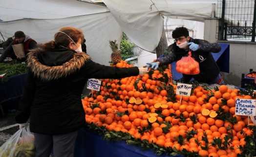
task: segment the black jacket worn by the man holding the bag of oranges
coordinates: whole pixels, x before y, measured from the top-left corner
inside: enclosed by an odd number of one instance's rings
[[[191,78],[198,82],[209,83],[212,82],[219,74],[220,70],[215,60],[213,59],[213,53],[218,53],[221,47],[218,43],[209,43],[202,39],[190,39],[189,42],[194,42],[199,45],[197,51],[192,51],[192,58],[199,63],[200,73],[197,75],[185,75],[183,78],[185,82],[189,82]],[[180,60],[182,57],[188,56],[188,50],[180,49],[176,43],[169,46],[171,53],[163,58],[158,58],[156,61],[160,62],[160,65],[167,65],[174,61]]]

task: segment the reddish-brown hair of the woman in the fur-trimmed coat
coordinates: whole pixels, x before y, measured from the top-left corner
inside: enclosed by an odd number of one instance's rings
[[[82,30],[73,27],[63,27],[59,32],[55,33],[54,41],[51,40],[43,44],[44,49],[58,48],[60,45],[67,47],[70,42],[73,42],[69,37],[77,43],[79,39],[84,39]]]

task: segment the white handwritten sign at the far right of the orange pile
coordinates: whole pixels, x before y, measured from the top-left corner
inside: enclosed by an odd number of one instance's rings
[[[256,100],[245,98],[235,99],[235,115],[256,116]]]

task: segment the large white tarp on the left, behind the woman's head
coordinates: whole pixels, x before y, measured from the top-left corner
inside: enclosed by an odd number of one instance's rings
[[[38,43],[43,43],[53,40],[54,34],[61,27],[72,26],[83,30],[87,54],[95,62],[109,65],[111,49],[108,41],[117,39],[120,42],[122,38],[121,27],[103,5],[78,0],[0,1],[0,19],[7,20],[15,17],[22,19],[0,22],[0,32],[4,39],[12,37],[16,31],[21,30]],[[9,12],[8,8],[12,12]]]

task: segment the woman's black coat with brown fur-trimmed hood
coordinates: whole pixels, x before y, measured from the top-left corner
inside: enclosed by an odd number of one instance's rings
[[[69,49],[30,51],[29,71],[16,114],[17,123],[30,118],[30,131],[61,135],[85,125],[81,93],[88,78],[126,78],[138,67],[117,68],[93,62],[85,53]]]

